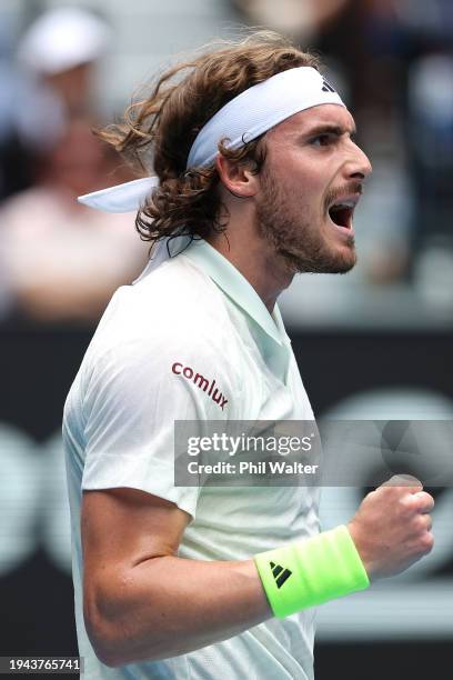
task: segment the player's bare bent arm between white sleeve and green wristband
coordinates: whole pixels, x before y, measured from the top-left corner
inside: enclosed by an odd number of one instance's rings
[[[142,491],[84,492],[84,618],[104,663],[174,657],[271,618],[253,560],[177,557],[189,519]]]

